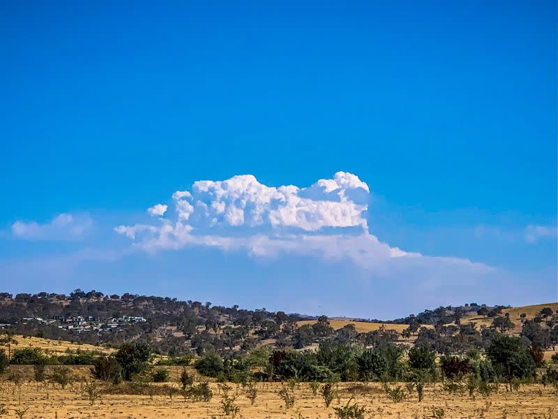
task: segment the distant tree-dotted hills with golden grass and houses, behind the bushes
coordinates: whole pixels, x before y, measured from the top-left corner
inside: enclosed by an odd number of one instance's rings
[[[262,345],[301,349],[325,343],[423,344],[438,353],[463,353],[484,348],[497,332],[523,335],[548,352],[558,341],[556,311],[557,302],[527,307],[471,303],[393,321],[364,321],[76,290],[70,295],[0,293],[0,332],[31,336],[17,345],[35,344],[54,354],[66,349],[95,351],[135,339],[149,341],[158,353],[170,356],[209,351],[227,356]],[[35,341],[36,337],[50,340]]]

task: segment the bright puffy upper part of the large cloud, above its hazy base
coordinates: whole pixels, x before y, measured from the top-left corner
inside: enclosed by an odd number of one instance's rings
[[[197,228],[270,227],[317,231],[323,228],[366,228],[368,185],[350,173],[337,172],[310,188],[271,187],[252,175],[224,181],[200,180],[192,192],[173,198],[180,220]]]

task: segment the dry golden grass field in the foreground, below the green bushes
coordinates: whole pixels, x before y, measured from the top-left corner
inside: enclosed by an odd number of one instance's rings
[[[178,385],[174,383],[173,385]],[[278,396],[280,383],[258,383],[255,404],[244,395],[240,386],[230,384],[229,395],[236,395],[235,404],[240,411],[236,418],[335,418],[334,407],[346,404],[354,396],[357,403],[366,406],[365,418],[497,418],[497,419],[554,419],[557,418],[556,390],[550,386],[526,385],[518,392],[506,392],[500,388],[490,397],[476,396],[469,399],[466,394],[455,395],[442,391],[440,385],[425,389],[423,402],[418,403],[416,394],[405,402],[393,403],[379,383],[342,383],[339,385],[340,404],[334,400],[326,409],[322,397],[312,395],[308,383],[300,383],[294,389],[295,402],[285,410]],[[52,383],[37,385],[32,381],[18,387],[8,381],[0,382],[0,408],[4,404],[7,413],[3,418],[17,418],[17,409],[29,410],[24,418],[212,418],[224,417],[220,409],[222,396],[216,383],[211,383],[211,402],[190,402],[180,395],[168,396],[104,395],[93,406],[84,395],[84,384],[76,382],[65,390]],[[353,388],[353,390],[351,390]],[[433,408],[443,416],[434,416]]]

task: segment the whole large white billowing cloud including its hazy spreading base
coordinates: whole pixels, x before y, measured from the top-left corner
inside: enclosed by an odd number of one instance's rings
[[[423,258],[390,247],[368,231],[370,188],[348,172],[303,188],[266,186],[252,175],[199,180],[190,191],[173,193],[172,199],[172,216],[155,224],[118,226],[116,232],[146,251],[202,246],[259,257],[295,253],[352,260],[367,269],[390,260]],[[457,258],[439,259],[481,266]]]

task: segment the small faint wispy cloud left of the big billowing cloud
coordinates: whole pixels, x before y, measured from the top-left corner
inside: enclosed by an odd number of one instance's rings
[[[47,223],[15,221],[12,235],[29,241],[75,241],[82,240],[93,226],[89,214],[62,213]]]

